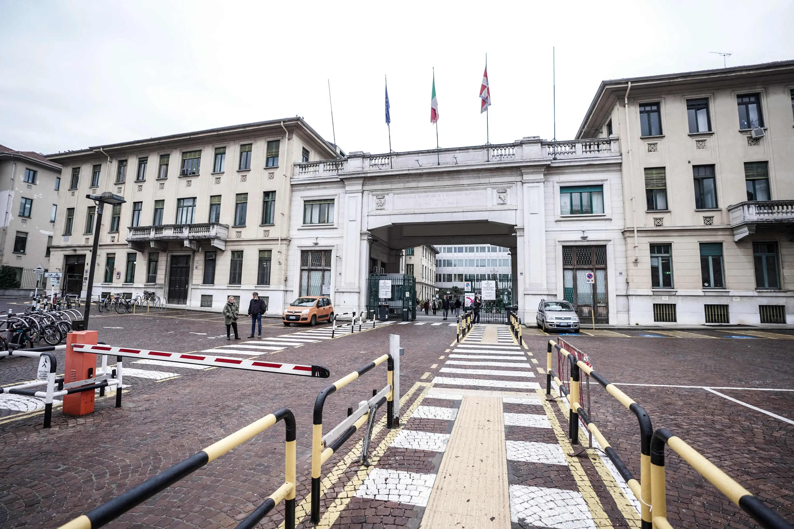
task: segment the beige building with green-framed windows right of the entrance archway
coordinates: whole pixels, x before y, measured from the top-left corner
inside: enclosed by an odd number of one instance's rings
[[[604,81],[577,139],[607,136],[630,324],[794,321],[794,61]]]

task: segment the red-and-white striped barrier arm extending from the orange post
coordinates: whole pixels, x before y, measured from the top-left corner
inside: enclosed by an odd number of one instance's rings
[[[116,355],[128,358],[151,358],[167,362],[181,362],[183,364],[198,364],[199,366],[230,367],[232,369],[264,371],[265,373],[295,374],[301,377],[329,378],[330,371],[323,366],[301,366],[297,364],[284,364],[281,362],[264,362],[262,360],[241,360],[225,356],[210,356],[200,353],[166,353],[163,351],[148,351],[147,349],[132,349],[130,347],[110,347],[108,345],[86,345],[75,343],[75,351],[94,353],[96,355]]]

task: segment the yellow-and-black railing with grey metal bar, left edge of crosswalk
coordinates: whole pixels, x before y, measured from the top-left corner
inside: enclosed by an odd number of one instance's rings
[[[331,393],[344,388],[350,382],[367,373],[376,366],[387,362],[386,385],[380,391],[374,391],[372,398],[362,401],[355,412],[349,410],[349,416],[337,424],[326,435],[322,435],[322,410],[326,399]],[[395,372],[395,363],[398,366]],[[356,433],[360,427],[367,424],[367,434],[364,447],[361,449],[361,462],[367,463],[369,436],[372,432],[375,413],[383,404],[387,404],[386,426],[389,428],[399,426],[399,416],[395,412],[395,399],[399,403],[399,395],[395,395],[395,378],[399,380],[399,362],[395,362],[390,354],[379,356],[360,370],[353,371],[323,389],[314,401],[314,420],[311,436],[311,521],[320,522],[320,474],[322,464],[339,450],[339,448]],[[398,411],[399,412],[399,409]]]

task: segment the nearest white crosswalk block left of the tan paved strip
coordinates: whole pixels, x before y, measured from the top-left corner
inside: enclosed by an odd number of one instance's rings
[[[358,488],[356,497],[426,507],[435,481],[435,474],[376,468]]]

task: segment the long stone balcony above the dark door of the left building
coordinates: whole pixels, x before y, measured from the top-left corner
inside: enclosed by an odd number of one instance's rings
[[[152,247],[165,251],[169,241],[183,241],[184,247],[198,251],[199,241],[206,240],[218,250],[226,249],[229,226],[210,222],[206,224],[164,224],[161,226],[138,226],[129,228],[129,247]],[[148,243],[148,244],[146,244]]]

